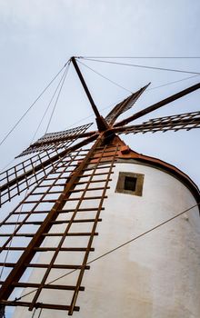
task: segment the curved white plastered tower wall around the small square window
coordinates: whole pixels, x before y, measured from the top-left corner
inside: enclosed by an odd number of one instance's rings
[[[115,193],[119,172],[144,174],[142,196]],[[95,186],[98,186],[95,184]],[[101,184],[99,184],[101,186]],[[107,190],[105,211],[98,223],[98,236],[89,261],[132,240],[165,220],[196,204],[193,194],[174,176],[134,161],[115,164]],[[89,203],[94,206],[94,203]],[[69,206],[67,206],[69,207]],[[82,215],[84,217],[84,215]],[[91,214],[88,214],[91,217]],[[80,224],[75,224],[81,231]],[[59,228],[60,232],[60,228]],[[51,238],[52,240],[52,238]],[[84,246],[84,237],[81,237]],[[73,243],[75,246],[75,243]],[[77,246],[80,246],[80,241]],[[74,253],[75,254],[75,253]],[[80,256],[80,255],[79,255]],[[75,255],[75,262],[81,258]],[[47,253],[41,256],[41,260]],[[62,257],[59,263],[65,262]],[[76,305],[75,318],[188,318],[200,317],[200,217],[198,208],[182,214],[149,234],[90,264],[85,271]],[[54,279],[65,271],[56,270]],[[73,282],[76,273],[56,283]],[[31,280],[36,278],[33,272]],[[63,295],[63,293],[62,293]],[[70,303],[59,292],[47,290],[44,303]],[[28,301],[28,298],[25,300]],[[39,310],[36,311],[36,317]],[[15,311],[15,318],[31,317],[25,308]],[[44,310],[41,318],[63,318],[67,313]]]

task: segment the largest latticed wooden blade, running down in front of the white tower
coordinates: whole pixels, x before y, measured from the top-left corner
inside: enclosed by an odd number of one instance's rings
[[[104,209],[105,194],[115,166],[118,148],[118,145],[112,144],[102,146],[100,135],[90,150],[80,149],[70,156],[63,157],[56,164],[55,170],[47,174],[45,179],[25,197],[22,204],[5,218],[2,223],[3,234],[0,234],[5,237],[5,243],[2,243],[1,250],[6,253],[9,249],[10,253],[15,253],[16,261],[10,263],[5,259],[4,263],[0,263],[5,268],[12,268],[1,282],[0,303],[26,306],[29,310],[38,307],[66,310],[69,315],[79,310],[75,303],[78,293],[84,291],[81,283],[85,270],[89,269],[87,265],[89,253],[94,251],[92,245],[97,235],[96,227],[98,222],[101,222],[100,213]],[[71,168],[74,165],[75,170],[72,173]],[[89,208],[88,204],[85,204],[87,200],[92,203]],[[91,212],[93,217],[89,218]],[[22,218],[19,221],[17,216],[23,216],[23,221]],[[62,227],[59,227],[60,224]],[[75,224],[84,225],[84,229],[75,232],[73,230]],[[13,231],[10,230],[11,226]],[[72,245],[71,236],[76,237],[76,243],[79,239],[79,247]],[[83,236],[88,236],[88,240],[84,241]],[[19,237],[20,240],[17,241]],[[47,251],[50,257],[44,255],[43,252]],[[38,253],[39,256],[35,257]],[[62,260],[68,258],[68,262],[57,263],[56,260],[62,253],[65,254]],[[73,253],[81,253],[80,263],[73,263]],[[36,261],[33,261],[34,257]],[[29,268],[34,269],[31,276],[26,274]],[[42,271],[38,272],[37,270],[40,269]],[[49,281],[48,277],[51,274],[55,277],[55,269],[75,272],[74,283],[71,283],[72,277],[68,275],[65,279],[62,278],[62,284],[56,279],[54,282]],[[10,297],[19,287],[25,288],[23,297],[28,293],[28,302],[26,300],[21,302],[20,299],[14,301]],[[30,293],[30,288],[32,291],[34,288],[34,293]],[[63,299],[63,303],[53,303],[52,298],[48,298],[48,293],[45,293],[44,303],[41,293],[44,293],[45,289],[55,290],[55,293],[63,292],[60,298]],[[70,293],[68,298],[66,291]]]

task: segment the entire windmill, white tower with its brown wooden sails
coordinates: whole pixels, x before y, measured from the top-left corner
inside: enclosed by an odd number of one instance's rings
[[[103,118],[75,57],[71,61],[98,131],[86,133],[88,124],[45,134],[23,153],[39,154],[2,174],[2,204],[32,187],[1,224],[1,251],[3,256],[13,253],[15,262],[5,257],[1,263],[9,270],[1,282],[0,317],[5,306],[15,306],[15,318],[67,313],[84,318],[197,318],[198,188],[175,166],[132,151],[118,134],[198,128],[199,112],[127,124],[200,84],[115,123],[147,85]],[[6,226],[13,227],[11,233],[5,232]],[[19,288],[23,292],[15,297]]]

